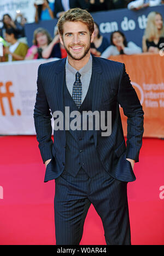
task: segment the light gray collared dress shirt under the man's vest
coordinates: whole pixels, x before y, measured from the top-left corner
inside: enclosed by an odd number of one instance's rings
[[[88,91],[91,75],[92,75],[92,56],[90,55],[89,61],[86,63],[83,68],[80,70],[76,70],[71,66],[68,62],[68,57],[66,59],[66,85],[68,88],[69,93],[72,96],[73,92],[73,84],[75,82],[75,74],[79,71],[81,74],[80,80],[82,84],[82,98],[81,98],[81,104],[85,99],[86,93]]]

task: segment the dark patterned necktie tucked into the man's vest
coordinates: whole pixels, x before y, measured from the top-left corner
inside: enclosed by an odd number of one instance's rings
[[[75,76],[76,79],[73,84],[73,93],[72,93],[72,98],[73,98],[75,104],[77,104],[78,108],[80,108],[81,98],[82,98],[82,84],[80,81],[80,76],[81,76],[81,74],[77,71],[76,76]]]

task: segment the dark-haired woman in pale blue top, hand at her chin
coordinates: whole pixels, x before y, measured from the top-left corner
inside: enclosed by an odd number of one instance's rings
[[[108,59],[110,55],[119,55],[119,54],[137,54],[141,53],[142,49],[138,47],[132,41],[127,42],[125,35],[121,31],[115,31],[110,36],[111,44],[106,51],[101,55],[102,58]]]

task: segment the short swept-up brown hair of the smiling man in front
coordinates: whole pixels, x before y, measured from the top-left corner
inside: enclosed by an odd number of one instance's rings
[[[57,23],[58,32],[61,36],[63,36],[63,25],[66,23],[66,21],[83,22],[87,25],[87,28],[90,31],[90,35],[92,35],[94,31],[94,21],[91,14],[87,12],[87,10],[83,10],[80,8],[73,8],[67,10],[67,12],[60,17]]]

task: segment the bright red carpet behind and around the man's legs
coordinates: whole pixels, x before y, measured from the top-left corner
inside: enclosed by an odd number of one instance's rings
[[[55,244],[55,182],[43,182],[36,136],[4,136],[0,143],[0,244]],[[164,140],[144,138],[137,180],[128,183],[132,244],[164,244],[163,149]],[[81,244],[106,244],[92,205]]]

